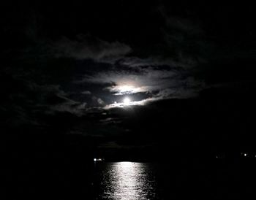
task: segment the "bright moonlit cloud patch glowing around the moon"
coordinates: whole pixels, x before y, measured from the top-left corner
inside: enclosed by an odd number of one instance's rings
[[[125,95],[135,96],[130,106],[143,105],[148,99],[154,101],[195,96],[196,91],[204,87],[202,81],[195,80],[189,71],[184,70],[181,66],[176,69],[165,66],[165,70],[159,70],[157,66],[147,66],[146,68],[137,66],[138,72],[132,72],[129,68],[122,70],[118,68],[120,67],[113,65],[110,72],[92,71],[93,75],[85,75],[82,80],[74,82],[78,85],[86,83],[110,85],[102,87],[102,92],[97,93],[107,104],[105,107],[121,107],[121,96]],[[90,92],[94,94],[94,91]]]

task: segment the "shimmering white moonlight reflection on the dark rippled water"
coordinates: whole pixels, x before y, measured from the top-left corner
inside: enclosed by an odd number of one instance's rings
[[[98,199],[154,199],[154,184],[154,174],[147,164],[109,163],[102,171]]]

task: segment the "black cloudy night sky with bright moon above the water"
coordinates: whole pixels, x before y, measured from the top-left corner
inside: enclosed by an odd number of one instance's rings
[[[74,136],[110,159],[254,150],[252,4],[10,1],[0,13],[2,135]]]

